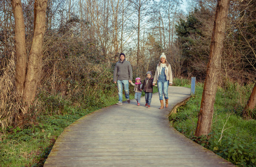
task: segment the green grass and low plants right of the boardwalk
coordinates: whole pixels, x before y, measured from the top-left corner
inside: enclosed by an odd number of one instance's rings
[[[241,117],[252,87],[253,84],[240,86],[230,83],[224,88],[219,87],[209,139],[195,136],[203,84],[197,83],[195,96],[185,106],[179,107],[177,114],[169,119],[179,132],[231,163],[238,166],[255,166],[255,111],[254,120],[244,120]]]

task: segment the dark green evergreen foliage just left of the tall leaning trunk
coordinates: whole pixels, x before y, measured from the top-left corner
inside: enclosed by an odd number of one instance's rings
[[[201,12],[195,9],[189,13],[186,20],[180,19],[176,25],[176,34],[177,42],[182,43],[184,57],[182,74],[204,79],[210,51],[210,38],[203,33],[203,24],[197,17],[197,15],[202,16]]]

